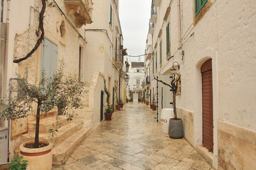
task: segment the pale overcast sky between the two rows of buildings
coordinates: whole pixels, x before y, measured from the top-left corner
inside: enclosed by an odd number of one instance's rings
[[[149,31],[151,0],[119,0],[119,19],[128,55],[142,55]],[[141,57],[143,61],[144,57]],[[138,57],[133,57],[138,60]]]

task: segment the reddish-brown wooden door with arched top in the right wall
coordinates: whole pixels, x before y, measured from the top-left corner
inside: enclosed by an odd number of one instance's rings
[[[203,106],[203,146],[213,152],[213,74],[212,60],[201,67]]]

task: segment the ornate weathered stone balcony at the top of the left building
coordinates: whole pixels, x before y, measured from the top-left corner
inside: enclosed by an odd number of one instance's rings
[[[64,0],[64,4],[76,28],[92,23],[92,0]]]

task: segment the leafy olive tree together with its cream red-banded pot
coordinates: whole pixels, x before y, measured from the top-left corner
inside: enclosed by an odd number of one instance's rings
[[[25,142],[20,146],[20,154],[28,160],[31,169],[41,169],[38,167],[38,155],[40,162],[46,162],[42,169],[51,169],[52,166],[52,147],[48,141],[39,141],[39,124],[41,113],[48,113],[54,107],[58,108],[58,113],[68,115],[67,120],[72,120],[73,115],[68,113],[71,108],[80,108],[83,85],[78,82],[76,77],[63,77],[63,64],[53,77],[46,78],[44,72],[35,84],[30,84],[25,78],[20,78],[20,91],[18,96],[8,103],[0,102],[0,119],[15,120],[16,118],[26,117],[33,111],[36,103],[36,132],[35,140]],[[35,167],[33,167],[35,166]],[[46,168],[48,167],[48,168]]]

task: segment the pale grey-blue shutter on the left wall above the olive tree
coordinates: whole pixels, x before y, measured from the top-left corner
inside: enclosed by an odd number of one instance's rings
[[[58,46],[50,42],[47,38],[43,40],[43,50],[41,57],[41,72],[45,71],[46,78],[52,77],[57,72]]]

